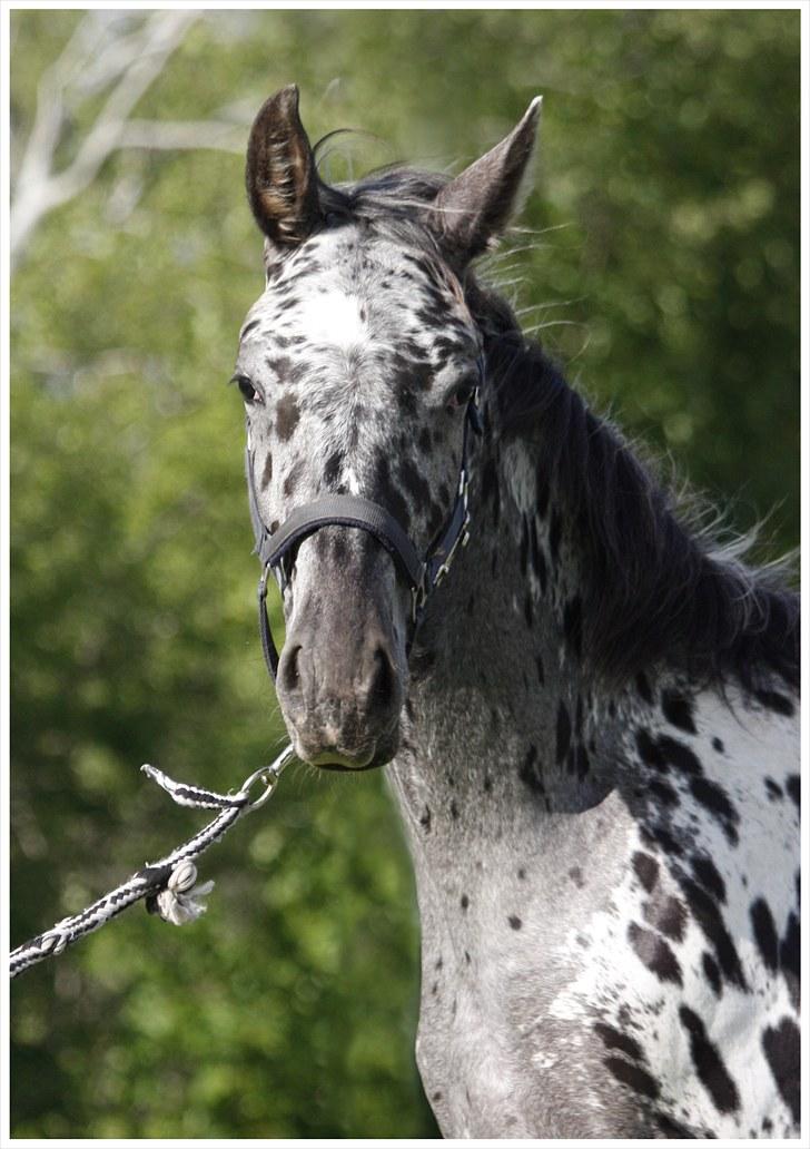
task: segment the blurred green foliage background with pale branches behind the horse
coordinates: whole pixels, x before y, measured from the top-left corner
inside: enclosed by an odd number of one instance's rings
[[[571,380],[799,537],[797,11],[11,13],[11,940],[188,836],[283,732],[231,375],[262,288],[242,155],[301,87],[324,172],[458,170],[545,95],[493,272]],[[288,773],[205,859],[13,984],[22,1138],[435,1136],[381,773]]]

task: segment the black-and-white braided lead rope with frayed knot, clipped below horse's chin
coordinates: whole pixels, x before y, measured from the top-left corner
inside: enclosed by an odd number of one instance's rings
[[[149,913],[157,913],[172,925],[182,926],[199,918],[206,911],[200,899],[211,892],[214,882],[196,885],[196,866],[193,859],[209,846],[218,842],[245,813],[264,805],[276,789],[281,771],[294,757],[293,748],[287,746],[272,765],[262,766],[246,778],[236,794],[216,794],[200,786],[176,782],[156,766],[141,766],[146,777],[157,782],[178,805],[188,805],[198,810],[219,810],[219,813],[160,862],[147,863],[122,886],[111,889],[80,913],[63,918],[51,930],[18,946],[9,957],[10,976],[16,978],[18,973],[23,973],[46,957],[64,953],[68,946],[72,946],[79,938],[100,930],[144,897]],[[250,791],[257,782],[261,782],[264,789],[257,797],[250,800]]]

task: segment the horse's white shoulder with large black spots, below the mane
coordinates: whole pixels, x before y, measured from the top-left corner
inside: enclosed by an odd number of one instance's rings
[[[797,740],[777,689],[664,689],[628,724],[624,876],[551,1009],[597,1016],[617,1080],[718,1135],[799,1120]]]

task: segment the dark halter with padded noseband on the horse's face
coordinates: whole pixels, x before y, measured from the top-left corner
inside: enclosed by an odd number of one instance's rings
[[[393,515],[389,515],[378,503],[371,502],[369,499],[361,499],[357,495],[324,495],[323,499],[316,499],[315,502],[304,503],[303,507],[298,507],[277,531],[271,533],[262,522],[262,516],[259,511],[259,500],[256,499],[256,487],[253,477],[253,450],[248,440],[248,446],[245,449],[245,470],[247,472],[250,522],[253,523],[253,533],[256,538],[254,553],[259,555],[262,564],[262,574],[259,579],[259,634],[262,640],[264,662],[273,681],[276,681],[276,672],[278,671],[278,651],[272,640],[270,619],[268,618],[268,576],[272,571],[276,574],[281,592],[284,592],[288,579],[284,558],[290,555],[298,542],[306,539],[307,535],[314,534],[322,526],[360,527],[362,531],[373,534],[391,554],[400,571],[406,577],[411,591],[412,642],[416,629],[422,622],[425,603],[430,594],[439,586],[449,571],[458,547],[466,546],[470,538],[468,452],[470,429],[476,434],[481,433],[478,394],[478,387],[476,387],[466,404],[464,415],[464,438],[461,450],[458,487],[453,510],[445,523],[439,539],[430,547],[424,560],[419,558],[416,547]]]

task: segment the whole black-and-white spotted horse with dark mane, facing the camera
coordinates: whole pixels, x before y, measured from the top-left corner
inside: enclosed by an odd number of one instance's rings
[[[278,701],[301,758],[384,766],[401,808],[443,1135],[797,1136],[797,596],[472,270],[539,106],[455,178],[348,186],[294,86],[256,117],[234,380]]]

